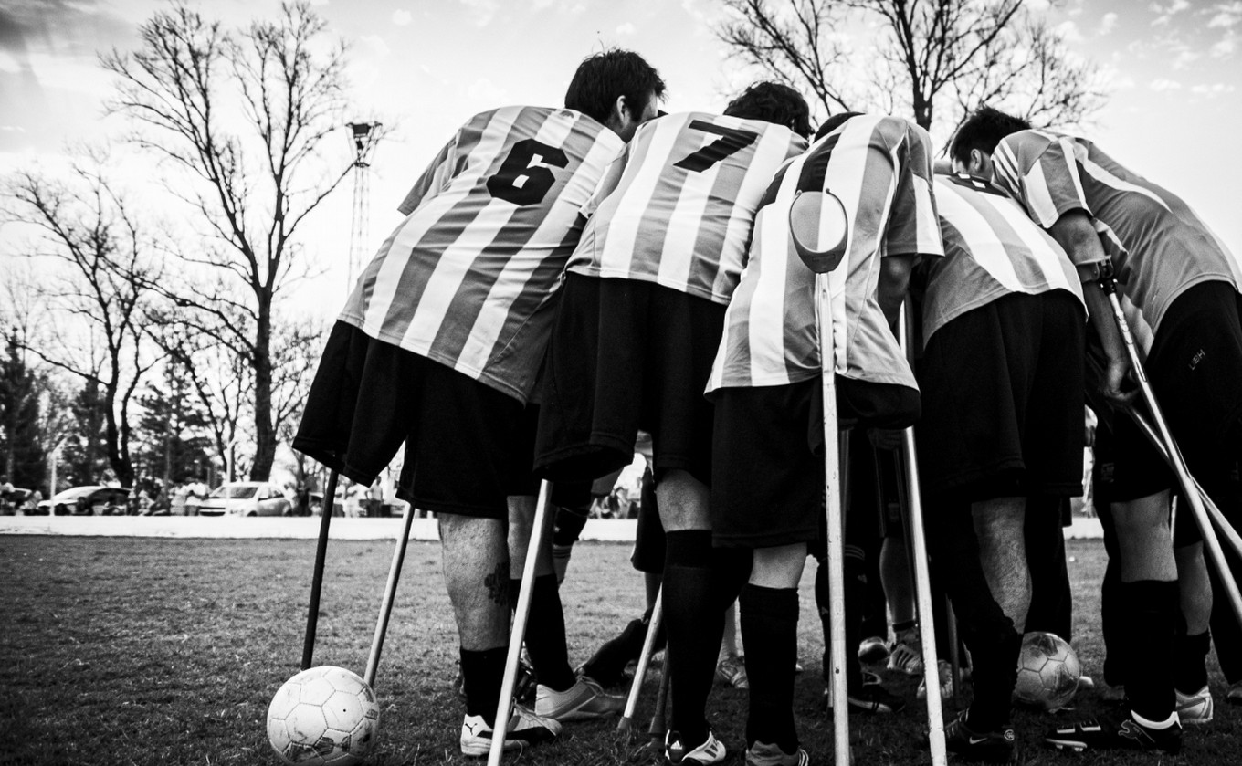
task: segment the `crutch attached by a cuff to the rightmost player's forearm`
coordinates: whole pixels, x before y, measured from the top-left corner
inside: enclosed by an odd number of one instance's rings
[[[1207,516],[1207,510],[1203,508],[1205,495],[1200,494],[1201,488],[1196,485],[1194,477],[1190,475],[1186,461],[1181,457],[1181,449],[1177,448],[1177,442],[1174,441],[1169,423],[1165,421],[1164,413],[1160,411],[1160,405],[1156,403],[1155,394],[1151,391],[1151,384],[1148,381],[1148,374],[1143,369],[1143,360],[1139,359],[1139,350],[1134,344],[1134,335],[1130,333],[1130,323],[1126,322],[1125,313],[1122,310],[1122,302],[1117,297],[1117,278],[1113,276],[1113,264],[1110,261],[1105,261],[1100,266],[1099,287],[1108,297],[1109,305],[1113,307],[1113,318],[1122,331],[1125,353],[1130,358],[1130,366],[1134,367],[1134,377],[1139,382],[1143,401],[1151,415],[1151,425],[1155,426],[1154,433],[1159,436],[1160,444],[1164,446],[1163,452],[1174,473],[1177,475],[1181,494],[1186,499],[1191,514],[1195,516],[1195,524],[1199,525],[1199,531],[1203,538],[1203,547],[1207,549],[1208,560],[1221,575],[1221,582],[1225,585],[1230,606],[1233,607],[1233,615],[1242,622],[1242,593],[1238,592],[1237,582],[1230,575],[1228,562],[1225,560],[1225,552],[1221,551],[1221,541],[1216,539],[1212,523]]]

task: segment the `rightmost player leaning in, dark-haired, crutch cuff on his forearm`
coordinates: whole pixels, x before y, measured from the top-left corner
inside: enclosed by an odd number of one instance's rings
[[[1027,215],[1066,250],[1083,282],[1114,272],[1130,329],[1145,355],[1148,379],[1186,462],[1222,508],[1228,469],[1242,446],[1242,266],[1176,195],[1123,168],[1092,142],[1031,130],[1016,118],[982,108],[959,129],[954,161],[974,175],[991,175]],[[1103,394],[1126,406],[1129,360],[1108,299],[1094,284],[1084,298],[1107,367]],[[1084,721],[1049,732],[1061,747],[1124,747],[1177,752],[1177,709],[1202,715],[1211,706],[1201,689],[1174,688],[1177,624],[1177,557],[1170,545],[1174,480],[1155,449],[1128,417],[1114,418],[1117,454],[1113,518],[1120,549],[1122,586],[1131,649],[1145,658],[1126,668],[1130,714],[1122,721]],[[1179,514],[1186,515],[1186,514]],[[1179,546],[1187,540],[1179,539]],[[1202,544],[1185,564],[1201,569]],[[1189,576],[1182,572],[1182,576]],[[1225,615],[1222,613],[1222,617]],[[1217,643],[1227,620],[1213,621]],[[1181,696],[1179,696],[1181,692]]]

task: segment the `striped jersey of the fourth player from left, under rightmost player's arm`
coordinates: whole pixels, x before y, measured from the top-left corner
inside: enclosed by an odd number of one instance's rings
[[[1078,272],[1066,251],[987,181],[938,175],[935,206],[945,257],[928,269],[924,343],[961,314],[1012,293],[1063,289],[1082,302]]]

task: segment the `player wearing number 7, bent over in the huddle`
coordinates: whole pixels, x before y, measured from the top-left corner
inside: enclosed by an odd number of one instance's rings
[[[749,564],[712,550],[703,386],[755,210],[781,163],[806,148],[809,114],[792,88],[756,83],[724,115],[643,125],[601,187],[607,196],[570,258],[553,330],[537,468],[599,475],[632,459],[640,428],[652,437],[674,764],[724,759],[704,706],[733,602],[728,572]]]

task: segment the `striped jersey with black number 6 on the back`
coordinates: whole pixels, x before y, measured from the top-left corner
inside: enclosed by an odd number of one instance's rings
[[[623,145],[571,109],[474,115],[401,202],[340,320],[525,402],[580,211]]]

